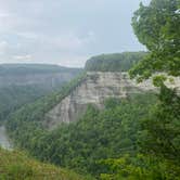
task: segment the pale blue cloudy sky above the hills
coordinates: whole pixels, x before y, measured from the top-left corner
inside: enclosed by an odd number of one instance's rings
[[[131,17],[150,0],[0,0],[0,63],[82,67],[102,53],[141,51]]]

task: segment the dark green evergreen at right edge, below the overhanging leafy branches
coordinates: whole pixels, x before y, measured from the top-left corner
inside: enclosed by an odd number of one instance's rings
[[[180,98],[175,90],[160,87],[158,103],[142,123],[140,146],[180,165]]]

